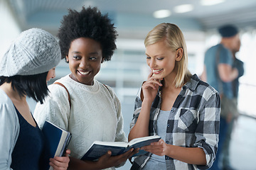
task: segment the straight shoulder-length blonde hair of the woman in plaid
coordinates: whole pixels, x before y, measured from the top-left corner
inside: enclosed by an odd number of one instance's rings
[[[164,40],[166,45],[171,50],[183,49],[183,56],[180,61],[176,61],[177,74],[174,79],[176,87],[181,87],[191,78],[191,72],[188,70],[188,53],[186,49],[186,42],[180,28],[172,23],[161,23],[154,27],[144,40],[145,47],[160,40]]]

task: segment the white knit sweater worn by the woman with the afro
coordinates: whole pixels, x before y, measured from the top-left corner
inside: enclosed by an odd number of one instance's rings
[[[67,91],[63,86],[51,84],[48,86],[49,96],[43,105],[36,105],[33,115],[40,128],[45,120],[49,120],[71,132],[68,149],[72,157],[81,159],[95,140],[127,141],[119,99],[110,86],[106,87],[97,80],[92,86],[87,86],[69,75],[57,81],[68,89],[71,109]]]

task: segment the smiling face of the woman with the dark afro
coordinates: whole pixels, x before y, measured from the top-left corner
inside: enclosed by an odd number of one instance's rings
[[[90,38],[73,40],[66,60],[70,67],[71,79],[82,84],[92,85],[102,63],[102,47]]]

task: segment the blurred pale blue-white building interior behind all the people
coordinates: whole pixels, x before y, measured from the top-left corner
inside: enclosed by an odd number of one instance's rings
[[[199,76],[203,72],[204,53],[220,42],[217,28],[227,23],[238,26],[241,48],[237,57],[244,62],[245,74],[240,78],[241,115],[233,130],[230,157],[235,169],[256,169],[255,0],[0,0],[0,57],[21,31],[36,27],[56,35],[68,8],[80,11],[82,6],[97,6],[102,13],[108,13],[117,28],[117,50],[110,62],[102,64],[96,79],[112,86],[119,97],[127,135],[135,96],[149,72],[144,55],[144,38],[149,30],[163,22],[179,26],[188,47],[188,67]],[[164,12],[162,16],[157,15],[159,10]],[[56,68],[55,79],[69,73],[68,64],[62,61]],[[30,101],[32,111],[35,104]],[[119,169],[129,166],[127,162]]]

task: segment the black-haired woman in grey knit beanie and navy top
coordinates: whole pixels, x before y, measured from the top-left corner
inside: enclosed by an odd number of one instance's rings
[[[65,157],[43,159],[44,139],[26,96],[43,103],[55,77],[60,47],[50,33],[23,31],[0,61],[0,169],[67,169]]]

